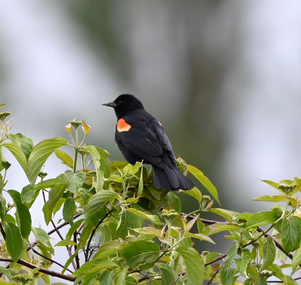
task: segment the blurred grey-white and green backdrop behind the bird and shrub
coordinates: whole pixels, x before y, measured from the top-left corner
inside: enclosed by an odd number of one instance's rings
[[[252,197],[276,194],[256,178],[301,176],[300,32],[299,1],[1,1],[0,103],[35,144],[84,119],[87,143],[115,160],[116,118],[101,104],[134,94],[224,207],[256,212],[272,205]],[[64,170],[55,157],[45,169]]]

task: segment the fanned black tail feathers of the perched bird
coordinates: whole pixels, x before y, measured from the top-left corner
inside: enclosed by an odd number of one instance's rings
[[[153,171],[154,186],[157,189],[164,188],[168,191],[190,190],[195,186],[176,166],[171,169],[164,164],[162,169],[153,165]]]

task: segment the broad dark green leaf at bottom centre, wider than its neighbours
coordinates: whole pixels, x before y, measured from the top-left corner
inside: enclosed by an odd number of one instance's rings
[[[151,268],[159,257],[160,247],[156,243],[145,240],[135,240],[127,243],[120,250],[120,255],[126,259],[130,270],[139,267],[140,270]]]

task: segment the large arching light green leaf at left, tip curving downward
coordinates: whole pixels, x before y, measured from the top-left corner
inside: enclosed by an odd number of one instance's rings
[[[32,150],[28,158],[27,178],[30,184],[34,184],[42,166],[47,158],[57,148],[68,144],[64,138],[51,138],[39,142]],[[24,153],[23,153],[24,154]],[[24,155],[25,156],[25,155]]]

